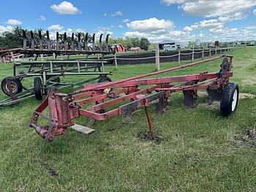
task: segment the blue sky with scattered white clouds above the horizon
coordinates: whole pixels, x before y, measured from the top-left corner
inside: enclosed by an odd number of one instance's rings
[[[88,31],[151,42],[256,39],[256,1],[2,1],[0,33],[14,26],[48,29],[52,36]]]

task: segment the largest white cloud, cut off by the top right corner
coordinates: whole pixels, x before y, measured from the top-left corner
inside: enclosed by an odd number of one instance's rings
[[[255,0],[162,0],[162,3],[166,5],[181,4],[179,8],[187,14],[207,18],[244,12],[256,5]]]

